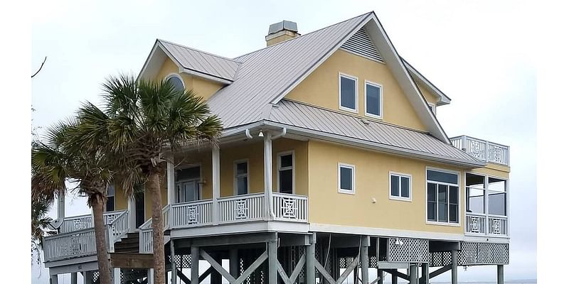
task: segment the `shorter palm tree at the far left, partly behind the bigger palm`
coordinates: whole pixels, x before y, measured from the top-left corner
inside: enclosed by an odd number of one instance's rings
[[[86,195],[87,204],[93,210],[100,283],[110,284],[103,208],[111,180],[111,155],[106,155],[104,148],[78,145],[79,122],[60,122],[48,129],[45,141],[38,141],[33,146],[32,200],[52,203],[56,195],[67,190],[65,181],[76,183],[73,190]]]

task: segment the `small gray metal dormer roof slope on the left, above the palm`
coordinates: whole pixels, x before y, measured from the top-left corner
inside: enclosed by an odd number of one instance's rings
[[[182,67],[205,75],[233,81],[240,62],[184,45],[158,40]]]

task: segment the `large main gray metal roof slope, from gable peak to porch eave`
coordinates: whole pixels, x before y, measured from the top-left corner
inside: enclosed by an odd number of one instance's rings
[[[225,128],[261,120],[270,102],[341,43],[371,13],[235,58],[242,62],[235,81],[210,99]]]

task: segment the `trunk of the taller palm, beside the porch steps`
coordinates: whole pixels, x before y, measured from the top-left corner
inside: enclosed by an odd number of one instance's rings
[[[147,181],[147,192],[152,200],[152,246],[154,247],[154,283],[166,284],[164,260],[164,220],[162,220],[162,198],[158,173],[152,173]]]

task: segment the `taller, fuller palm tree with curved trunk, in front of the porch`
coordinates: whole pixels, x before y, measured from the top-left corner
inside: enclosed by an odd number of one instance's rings
[[[131,163],[128,167],[133,173],[142,173],[144,190],[151,194],[154,283],[161,284],[165,281],[165,261],[159,175],[164,168],[164,151],[188,143],[216,143],[223,126],[201,97],[192,91],[176,90],[166,80],[135,80],[121,75],[107,79],[103,91],[109,145]],[[92,133],[85,136],[105,135],[97,131],[92,127]]]

